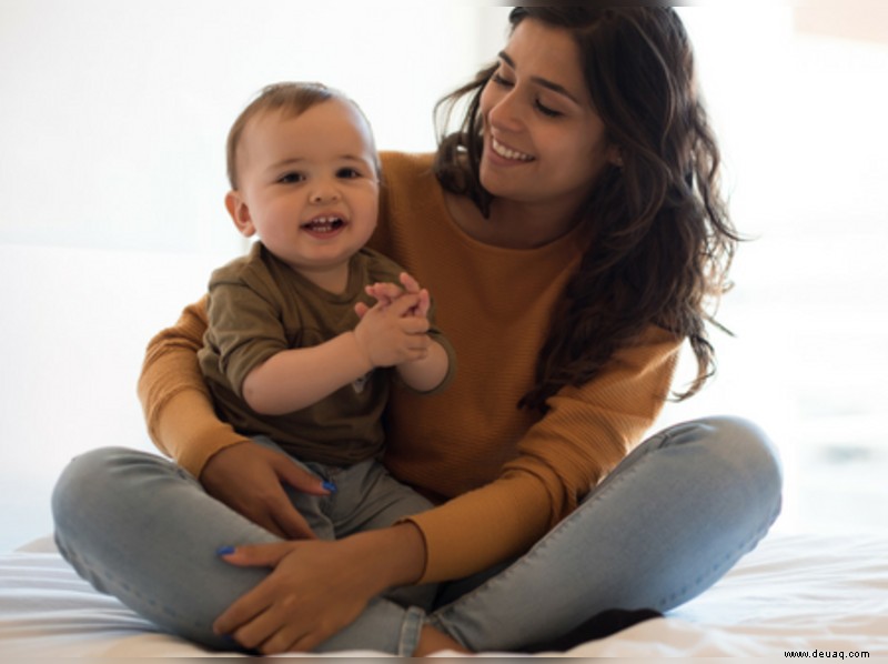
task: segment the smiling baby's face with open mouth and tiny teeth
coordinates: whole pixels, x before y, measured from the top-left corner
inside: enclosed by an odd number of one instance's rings
[[[331,99],[299,117],[251,120],[238,150],[241,215],[235,223],[311,276],[347,264],[376,225],[379,178],[370,128]]]

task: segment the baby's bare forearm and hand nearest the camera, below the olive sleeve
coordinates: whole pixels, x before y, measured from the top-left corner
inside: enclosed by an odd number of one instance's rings
[[[244,379],[244,400],[258,413],[282,415],[316,403],[377,366],[424,360],[430,354],[428,322],[405,316],[418,301],[411,294],[387,308],[377,304],[353,331],[272,355]]]

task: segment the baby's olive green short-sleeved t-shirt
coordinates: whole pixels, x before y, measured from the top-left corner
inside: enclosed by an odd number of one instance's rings
[[[241,386],[253,369],[279,352],[317,345],[354,330],[355,303],[373,304],[364,286],[400,283],[403,271],[381,253],[362,249],[350,261],[345,291],[331,293],[256,242],[248,255],[213,272],[210,326],[198,358],[220,416],[244,435],[271,437],[301,461],[351,465],[377,457],[384,444],[382,414],[391,369],[376,369],[314,405],[284,415],[254,412],[242,399]],[[430,335],[447,351],[451,373],[451,345],[435,328]]]

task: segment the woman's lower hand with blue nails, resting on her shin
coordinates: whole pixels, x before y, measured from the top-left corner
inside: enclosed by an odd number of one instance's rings
[[[271,567],[259,585],[213,624],[263,654],[307,652],[354,621],[387,587],[416,581],[425,547],[410,523],[335,542],[239,546],[223,560]]]

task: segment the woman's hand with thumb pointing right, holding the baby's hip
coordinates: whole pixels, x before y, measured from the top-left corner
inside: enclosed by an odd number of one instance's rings
[[[244,442],[216,452],[201,472],[200,483],[218,501],[284,540],[314,539],[283,485],[312,495],[329,495],[323,481],[284,454]]]

